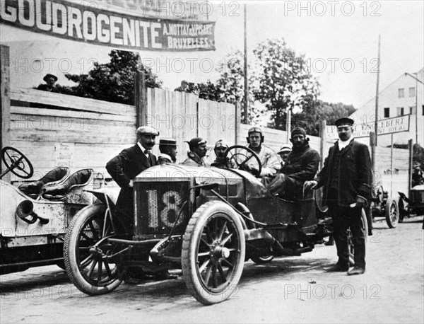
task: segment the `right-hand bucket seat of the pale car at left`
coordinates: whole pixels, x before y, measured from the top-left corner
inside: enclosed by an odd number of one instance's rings
[[[43,190],[42,192],[42,198],[46,200],[58,201],[65,200],[67,197],[69,198],[77,190],[78,192],[82,193],[82,187],[88,185],[88,183],[93,180],[93,175],[93,169],[78,170],[76,171],[76,173],[71,174],[69,178],[64,181],[64,183],[52,187],[46,187],[45,190]],[[71,200],[78,200],[78,198]]]

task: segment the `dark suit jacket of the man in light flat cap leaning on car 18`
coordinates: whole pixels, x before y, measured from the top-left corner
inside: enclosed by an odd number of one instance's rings
[[[106,164],[107,172],[117,182],[121,191],[117,201],[117,207],[131,215],[133,205],[133,192],[129,187],[129,181],[136,178],[141,171],[156,165],[156,157],[151,154],[151,161],[141,151],[138,144],[124,149]]]

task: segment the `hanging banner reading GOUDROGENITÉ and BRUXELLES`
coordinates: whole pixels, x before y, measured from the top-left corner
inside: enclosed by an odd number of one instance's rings
[[[215,22],[146,18],[64,0],[0,0],[0,23],[54,37],[151,51],[215,50]]]

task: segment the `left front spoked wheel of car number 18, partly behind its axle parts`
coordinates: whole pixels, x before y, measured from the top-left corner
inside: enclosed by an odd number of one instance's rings
[[[107,241],[97,244],[102,238],[105,212],[105,205],[91,204],[76,214],[66,231],[64,243],[66,272],[71,282],[88,295],[107,294],[122,282],[119,278],[118,265],[105,258],[105,255],[112,253],[117,245]],[[107,227],[105,236],[114,235],[110,228],[111,226]],[[90,249],[93,246],[96,250],[101,250],[102,254],[93,252],[94,249]]]

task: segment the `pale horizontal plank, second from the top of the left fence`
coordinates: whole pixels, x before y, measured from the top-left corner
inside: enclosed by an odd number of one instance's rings
[[[11,106],[11,114],[20,115],[41,115],[41,116],[67,116],[73,118],[86,118],[86,119],[98,119],[98,120],[115,120],[119,122],[132,122],[135,125],[135,118],[130,115],[111,115],[99,112],[81,112],[73,110],[59,110],[49,108],[28,108]]]

